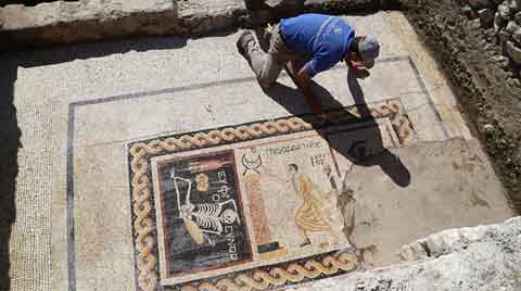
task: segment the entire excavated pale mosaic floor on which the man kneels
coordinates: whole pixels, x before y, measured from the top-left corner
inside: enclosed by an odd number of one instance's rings
[[[9,59],[21,63],[20,182],[31,187],[17,187],[13,290],[313,286],[395,263],[429,233],[509,217],[403,15],[348,21],[379,36],[382,56],[367,79],[344,65],[317,76],[326,124],[287,75],[258,87],[239,33]]]

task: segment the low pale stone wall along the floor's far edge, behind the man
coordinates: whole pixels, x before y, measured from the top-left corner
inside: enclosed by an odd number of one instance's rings
[[[262,0],[256,0],[262,2]],[[0,51],[130,35],[200,36],[255,26],[305,11],[353,13],[395,7],[398,0],[80,0],[0,8]]]

